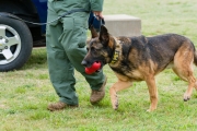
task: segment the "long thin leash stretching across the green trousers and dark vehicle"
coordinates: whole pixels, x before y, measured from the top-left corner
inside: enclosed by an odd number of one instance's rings
[[[73,9],[73,10],[71,10],[71,11],[68,11],[68,12],[61,14],[59,17],[57,17],[57,19],[55,19],[55,20],[53,20],[53,21],[50,21],[50,22],[46,22],[46,23],[34,23],[34,22],[30,22],[30,21],[20,19],[20,17],[15,16],[15,15],[12,15],[12,14],[10,14],[10,13],[0,13],[0,16],[5,16],[5,17],[11,17],[11,19],[20,20],[20,21],[23,21],[23,22],[25,22],[25,23],[30,23],[30,24],[34,24],[34,25],[47,25],[47,24],[51,24],[51,23],[60,20],[60,19],[63,17],[63,16],[67,16],[67,15],[69,15],[69,14],[76,13],[76,12],[90,12],[90,11],[86,11],[86,10],[84,10],[84,9]]]

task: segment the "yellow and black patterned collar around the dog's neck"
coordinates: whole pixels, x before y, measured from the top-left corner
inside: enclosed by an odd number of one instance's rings
[[[112,57],[109,64],[115,64],[118,61],[119,51],[120,51],[120,49],[119,49],[120,46],[119,46],[117,38],[113,37],[113,39],[114,39],[114,52],[113,52],[113,57]]]

